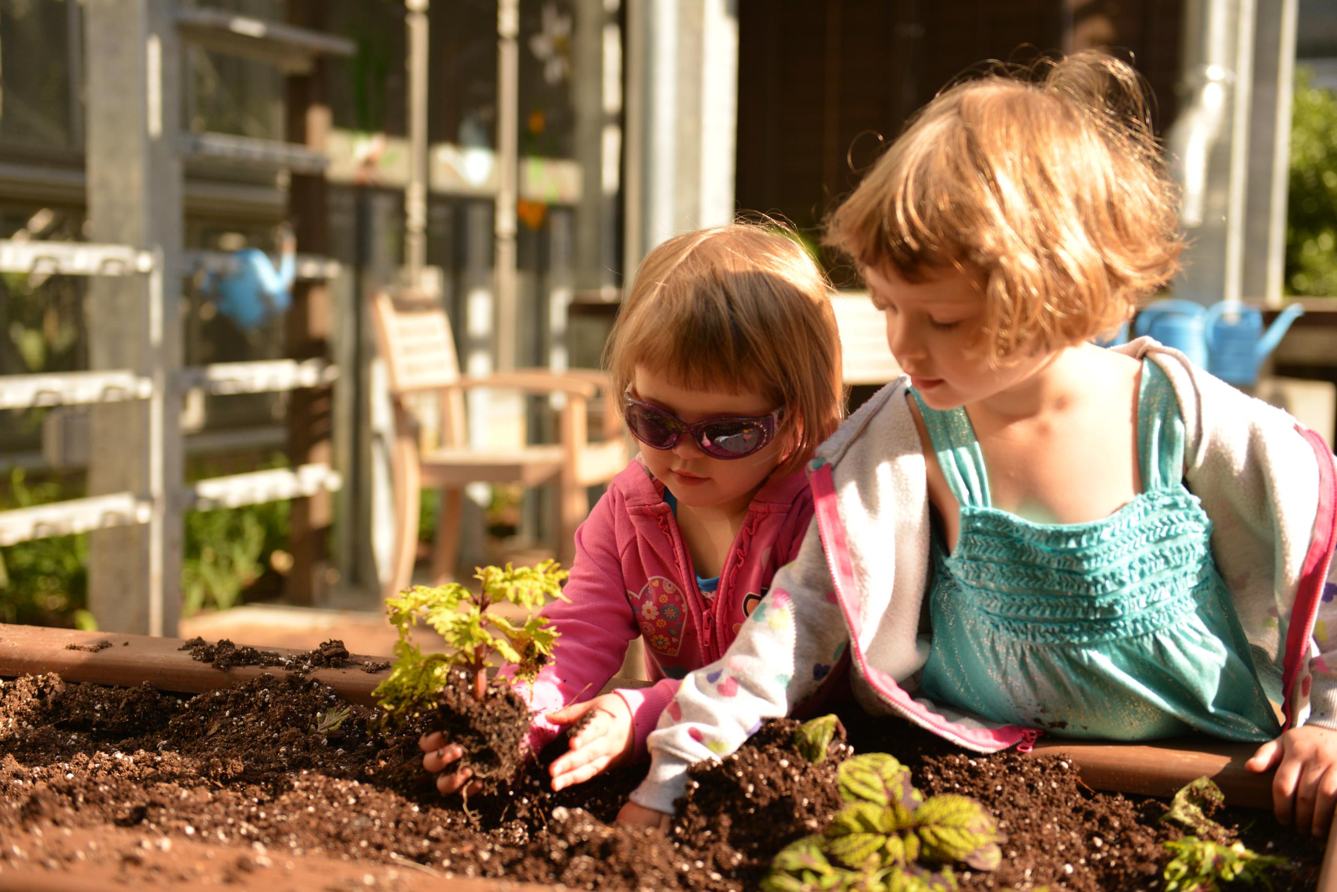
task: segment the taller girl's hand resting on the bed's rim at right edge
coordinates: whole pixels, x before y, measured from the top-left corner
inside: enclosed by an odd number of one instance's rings
[[[1326,728],[1293,728],[1258,748],[1245,768],[1277,773],[1271,801],[1277,820],[1294,822],[1300,833],[1326,836],[1337,806],[1337,732]]]

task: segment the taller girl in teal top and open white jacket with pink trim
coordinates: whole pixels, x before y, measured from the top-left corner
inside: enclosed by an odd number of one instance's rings
[[[1278,818],[1325,833],[1333,455],[1150,338],[1090,342],[1182,247],[1138,75],[1084,52],[945,90],[830,241],[906,374],[818,448],[816,535],[767,622],[682,682],[622,818],[660,822],[689,765],[848,653],[866,709],[979,752],[1040,732],[1258,744]]]

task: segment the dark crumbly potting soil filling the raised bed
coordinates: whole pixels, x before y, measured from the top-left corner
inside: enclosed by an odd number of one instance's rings
[[[812,765],[789,742],[794,723],[770,722],[734,756],[691,770],[689,794],[660,834],[610,824],[643,766],[554,794],[544,765],[559,752],[550,748],[465,812],[421,770],[417,738],[427,726],[382,733],[377,718],[299,675],[197,697],[55,675],[4,681],[0,837],[23,833],[24,847],[0,847],[0,868],[21,851],[60,869],[74,856],[43,849],[57,836],[52,828],[112,825],[146,840],[205,843],[227,857],[309,853],[575,888],[754,889],[775,851],[830,820],[840,806],[836,770],[852,752],[837,738],[830,757]],[[1058,757],[979,757],[906,725],[845,721],[858,752],[894,753],[927,794],[967,793],[999,817],[1008,834],[1003,864],[963,872],[963,889],[1162,887],[1161,843],[1179,836],[1157,822],[1163,802],[1088,790]],[[1313,888],[1321,844],[1263,812],[1226,809],[1217,818],[1246,845],[1298,865],[1275,875],[1274,888]],[[76,855],[99,857],[91,844]],[[116,867],[108,863],[108,873]],[[172,863],[175,875],[191,869],[189,859]]]

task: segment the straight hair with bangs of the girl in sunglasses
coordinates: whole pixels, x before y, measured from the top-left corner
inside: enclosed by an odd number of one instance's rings
[[[840,424],[840,334],[808,253],[749,223],[670,238],[636,271],[604,352],[618,392],[640,365],[693,391],[767,396],[785,408],[793,473]]]

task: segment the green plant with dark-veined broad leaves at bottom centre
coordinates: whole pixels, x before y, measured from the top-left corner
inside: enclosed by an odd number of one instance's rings
[[[813,729],[817,744],[822,728]],[[992,871],[1001,861],[997,822],[979,801],[955,793],[925,800],[909,769],[886,753],[841,764],[837,784],[845,808],[824,833],[775,856],[766,892],[947,892],[956,888],[953,865]]]

